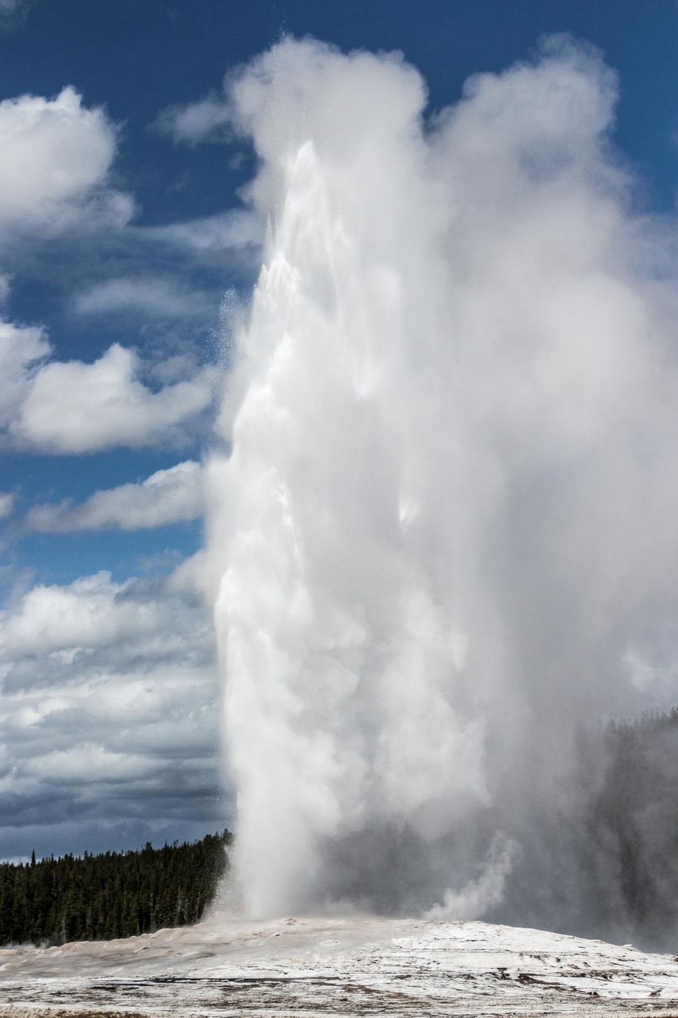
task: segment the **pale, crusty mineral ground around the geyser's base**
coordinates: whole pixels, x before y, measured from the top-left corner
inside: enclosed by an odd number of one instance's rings
[[[211,918],[0,950],[0,1018],[675,1015],[678,959],[484,922]]]

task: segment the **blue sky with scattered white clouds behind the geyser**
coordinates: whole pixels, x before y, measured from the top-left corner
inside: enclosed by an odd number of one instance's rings
[[[613,140],[635,200],[666,213],[678,5],[0,0],[0,855],[199,836],[231,811],[190,575],[196,464],[263,227],[238,193],[248,144],[180,129],[177,110],[209,109],[285,34],[401,50],[433,112],[568,32],[619,73]]]

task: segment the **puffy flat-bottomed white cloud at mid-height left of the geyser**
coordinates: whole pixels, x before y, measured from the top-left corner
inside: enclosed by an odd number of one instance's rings
[[[19,362],[18,367],[10,363],[14,376],[6,389],[15,416],[9,433],[19,446],[79,453],[176,442],[182,438],[180,426],[205,410],[210,401],[204,375],[151,391],[138,380],[137,355],[117,343],[92,364],[53,361],[27,380],[32,361],[45,349],[41,337],[39,330],[33,330],[27,362]],[[1,410],[0,405],[0,421]]]

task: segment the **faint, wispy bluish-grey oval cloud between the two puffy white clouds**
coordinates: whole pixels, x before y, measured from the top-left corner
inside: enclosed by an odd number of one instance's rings
[[[165,227],[170,229],[170,227]],[[75,297],[79,315],[131,313],[157,320],[192,319],[215,314],[215,299],[191,290],[180,280],[166,277],[108,279]]]

